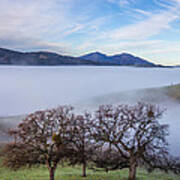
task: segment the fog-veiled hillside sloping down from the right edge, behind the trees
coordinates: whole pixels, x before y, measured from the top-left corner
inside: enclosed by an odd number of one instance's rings
[[[156,88],[137,89],[133,91],[114,92],[79,102],[78,109],[94,109],[101,104],[136,103],[139,101],[168,104],[180,102],[180,84]]]

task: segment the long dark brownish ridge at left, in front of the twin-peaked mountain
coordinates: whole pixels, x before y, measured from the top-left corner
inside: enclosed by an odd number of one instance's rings
[[[22,53],[0,48],[1,65],[98,65],[94,61],[51,52]]]

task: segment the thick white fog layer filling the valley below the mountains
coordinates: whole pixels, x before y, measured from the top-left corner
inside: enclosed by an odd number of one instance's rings
[[[83,109],[98,97],[179,83],[180,68],[0,66],[0,117],[62,104]],[[169,103],[167,108],[163,122],[170,125],[172,152],[180,155],[180,105]]]

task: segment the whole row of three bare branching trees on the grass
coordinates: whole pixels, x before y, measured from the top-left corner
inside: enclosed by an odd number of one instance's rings
[[[64,160],[81,164],[84,177],[89,162],[107,172],[128,168],[129,180],[136,179],[138,166],[180,174],[180,160],[168,151],[168,125],[159,122],[163,113],[147,103],[102,105],[84,114],[71,106],[36,111],[9,131],[13,141],[1,152],[3,165],[18,170],[46,164],[50,180]]]

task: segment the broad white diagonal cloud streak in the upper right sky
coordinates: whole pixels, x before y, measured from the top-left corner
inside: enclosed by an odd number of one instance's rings
[[[115,40],[146,39],[170,29],[170,23],[179,17],[176,11],[163,11],[135,24],[105,32],[102,38]]]

